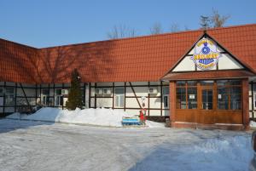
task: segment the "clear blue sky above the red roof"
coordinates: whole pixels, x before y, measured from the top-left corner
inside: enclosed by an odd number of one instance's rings
[[[0,0],[0,37],[37,48],[108,39],[113,26],[149,33],[159,22],[200,27],[201,14],[230,14],[226,26],[256,23],[256,0]]]

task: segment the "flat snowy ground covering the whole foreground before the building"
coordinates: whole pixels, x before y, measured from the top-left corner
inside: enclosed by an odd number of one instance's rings
[[[247,170],[250,134],[0,120],[1,171]]]

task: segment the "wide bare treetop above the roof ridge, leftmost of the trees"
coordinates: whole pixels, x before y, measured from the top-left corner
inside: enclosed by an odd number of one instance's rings
[[[125,25],[113,26],[111,31],[108,31],[107,37],[109,39],[123,38],[123,37],[136,37],[137,31]]]

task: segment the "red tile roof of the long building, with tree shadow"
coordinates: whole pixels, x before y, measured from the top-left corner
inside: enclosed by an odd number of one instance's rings
[[[183,31],[52,48],[0,40],[0,81],[68,83],[77,68],[83,82],[158,81],[203,31]],[[210,29],[207,34],[256,69],[256,24]]]

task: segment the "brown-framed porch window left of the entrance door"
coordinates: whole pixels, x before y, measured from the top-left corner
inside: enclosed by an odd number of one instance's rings
[[[197,108],[197,82],[177,82],[176,83],[176,108],[196,109]]]

